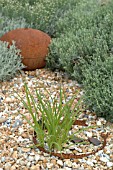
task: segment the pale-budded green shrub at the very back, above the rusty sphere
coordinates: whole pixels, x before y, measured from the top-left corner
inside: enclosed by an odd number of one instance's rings
[[[0,10],[10,18],[22,17],[33,23],[33,28],[42,30],[51,36],[56,33],[56,21],[64,13],[76,6],[78,0],[0,0]]]

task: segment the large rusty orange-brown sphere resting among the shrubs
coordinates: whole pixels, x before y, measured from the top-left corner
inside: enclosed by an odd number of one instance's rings
[[[16,47],[21,50],[22,63],[27,66],[25,70],[45,67],[51,42],[46,33],[31,28],[19,28],[4,34],[0,40],[9,42],[9,45],[13,40],[16,42]]]

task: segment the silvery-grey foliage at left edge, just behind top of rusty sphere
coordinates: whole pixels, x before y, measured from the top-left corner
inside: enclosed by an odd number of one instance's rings
[[[26,23],[24,18],[10,19],[8,17],[0,15],[1,23],[0,23],[0,37],[4,35],[6,32],[15,30],[17,28],[29,28],[32,27],[32,24],[29,25]]]

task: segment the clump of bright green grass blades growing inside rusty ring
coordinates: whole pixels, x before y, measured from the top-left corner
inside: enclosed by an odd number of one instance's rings
[[[25,115],[22,116],[34,129],[37,136],[37,146],[49,151],[54,149],[61,151],[63,145],[71,141],[75,134],[87,129],[82,128],[71,135],[69,133],[73,123],[80,115],[81,100],[77,103],[74,102],[77,95],[67,100],[64,91],[60,88],[59,99],[57,96],[52,97],[47,91],[50,100],[44,100],[46,97],[39,90],[36,90],[36,98],[34,98],[26,83],[24,88],[26,99],[18,96],[24,107],[29,111],[33,123]],[[41,117],[39,116],[40,113]]]

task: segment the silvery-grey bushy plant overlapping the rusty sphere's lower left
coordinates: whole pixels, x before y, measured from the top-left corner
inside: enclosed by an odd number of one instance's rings
[[[20,50],[15,47],[15,43],[8,48],[7,42],[0,41],[0,81],[10,80],[22,68]]]

